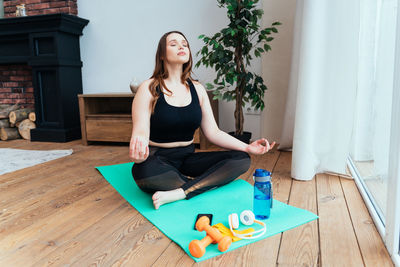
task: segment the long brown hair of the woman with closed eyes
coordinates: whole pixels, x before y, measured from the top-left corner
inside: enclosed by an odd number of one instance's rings
[[[181,82],[187,86],[186,80],[189,78],[190,80],[193,80],[191,77],[192,73],[192,64],[193,64],[193,59],[192,59],[192,53],[190,50],[189,42],[187,41],[185,35],[179,31],[170,31],[165,33],[160,41],[158,42],[158,47],[157,47],[157,53],[156,53],[156,66],[153,71],[153,75],[150,77],[152,78],[153,81],[151,81],[149,85],[150,93],[153,95],[153,101],[151,103],[151,112],[154,112],[154,108],[156,106],[157,100],[160,97],[160,93],[162,92],[161,88],[164,88],[169,94],[172,95],[172,92],[167,88],[167,86],[164,83],[164,79],[168,78],[168,70],[165,68],[164,65],[164,60],[166,60],[166,50],[167,50],[167,37],[171,33],[177,33],[183,36],[185,38],[187,46],[189,48],[189,61],[183,64],[182,66],[182,76],[181,76]],[[157,87],[160,87],[160,91],[157,92]]]

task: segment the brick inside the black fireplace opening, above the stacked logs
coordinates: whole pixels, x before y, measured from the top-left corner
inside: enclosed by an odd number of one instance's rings
[[[28,65],[0,65],[0,104],[34,108],[32,68]]]

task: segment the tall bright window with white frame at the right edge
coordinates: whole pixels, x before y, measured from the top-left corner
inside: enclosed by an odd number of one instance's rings
[[[359,71],[349,168],[400,265],[400,14],[396,0],[360,1]]]

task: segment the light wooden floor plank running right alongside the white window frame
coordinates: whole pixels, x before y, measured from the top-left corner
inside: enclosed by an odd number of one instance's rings
[[[365,266],[393,266],[354,181],[340,179]]]

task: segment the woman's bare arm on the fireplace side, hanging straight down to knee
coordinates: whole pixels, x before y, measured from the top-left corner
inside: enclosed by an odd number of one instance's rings
[[[129,145],[129,157],[135,163],[141,163],[149,156],[151,100],[149,91],[151,80],[143,82],[132,102],[132,137]]]

